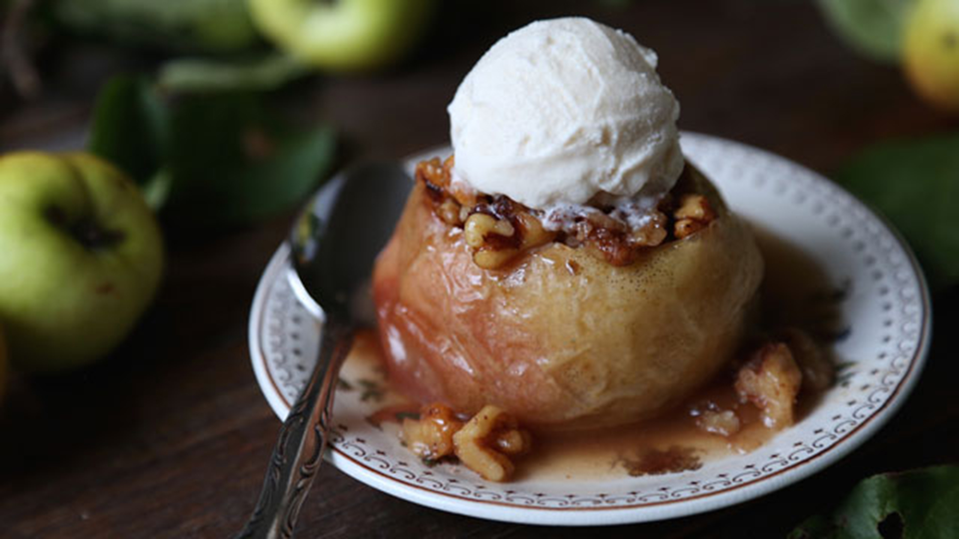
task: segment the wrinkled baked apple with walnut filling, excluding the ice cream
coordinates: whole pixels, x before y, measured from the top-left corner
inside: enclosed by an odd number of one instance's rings
[[[631,235],[601,219],[545,230],[542,212],[457,193],[450,168],[421,165],[373,274],[389,376],[407,395],[594,428],[675,406],[730,361],[762,260],[689,164]]]

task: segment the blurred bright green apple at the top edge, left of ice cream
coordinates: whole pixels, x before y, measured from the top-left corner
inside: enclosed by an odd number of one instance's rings
[[[311,65],[363,70],[400,59],[423,33],[433,0],[249,0],[254,25]]]

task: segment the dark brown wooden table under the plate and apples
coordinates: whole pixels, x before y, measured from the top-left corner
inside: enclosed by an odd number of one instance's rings
[[[444,142],[445,105],[496,38],[536,18],[582,13],[658,51],[663,80],[683,105],[683,129],[750,143],[827,174],[874,141],[956,127],[921,104],[897,68],[843,46],[811,2],[466,5],[449,10],[403,68],[300,84],[304,110],[335,122],[351,156],[399,157]],[[5,149],[75,143],[69,133],[87,120],[94,82],[118,64],[90,61],[78,75],[72,54],[59,60],[39,102],[0,106]],[[0,411],[0,537],[227,537],[241,527],[279,426],[253,379],[246,320],[257,278],[291,219],[170,237],[162,292],[121,349],[75,374],[16,381]],[[955,462],[954,296],[936,298],[939,335],[908,404],[840,464],[751,503],[590,532],[782,536],[867,475]],[[585,532],[443,513],[387,496],[332,466],[314,488],[301,516],[303,537]]]

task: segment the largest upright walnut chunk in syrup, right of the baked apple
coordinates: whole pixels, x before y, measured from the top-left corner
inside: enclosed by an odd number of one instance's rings
[[[794,406],[803,373],[782,342],[766,344],[737,373],[736,392],[762,410],[762,422],[770,429],[784,429],[794,422]]]

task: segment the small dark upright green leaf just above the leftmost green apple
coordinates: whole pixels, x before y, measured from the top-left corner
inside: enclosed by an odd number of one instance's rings
[[[86,149],[143,184],[163,159],[166,121],[166,106],[148,79],[114,77],[97,96]]]

